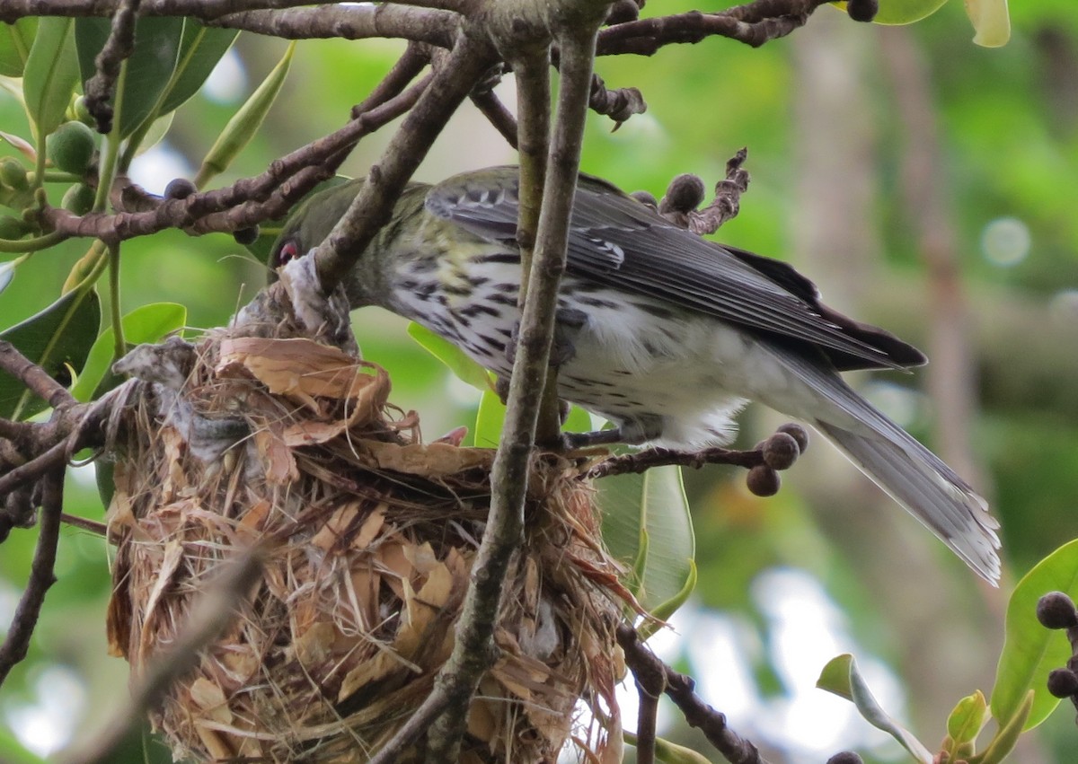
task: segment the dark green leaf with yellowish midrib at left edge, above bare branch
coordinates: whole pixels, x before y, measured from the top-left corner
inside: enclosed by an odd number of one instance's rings
[[[101,323],[101,304],[94,290],[72,290],[36,316],[0,332],[19,352],[53,378],[67,376],[67,367],[83,367]],[[0,417],[25,419],[47,404],[15,377],[0,372]]]

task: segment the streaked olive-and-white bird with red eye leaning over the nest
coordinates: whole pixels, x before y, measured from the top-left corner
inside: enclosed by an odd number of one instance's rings
[[[271,265],[320,244],[362,182],[299,206]],[[350,307],[377,305],[411,319],[508,378],[521,320],[517,207],[514,166],[410,183],[345,279]],[[997,585],[999,525],[987,502],[840,374],[908,370],[927,359],[826,306],[789,264],[705,239],[580,173],[552,357],[558,397],[613,425],[570,443],[727,445],[743,406],[762,403],[815,428]]]

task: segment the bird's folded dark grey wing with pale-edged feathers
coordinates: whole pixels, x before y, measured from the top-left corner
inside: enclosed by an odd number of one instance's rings
[[[483,238],[516,235],[517,170],[465,173],[433,186],[427,209]],[[581,176],[567,270],[627,292],[819,347],[839,369],[904,369],[915,348],[819,302],[789,265],[722,247],[678,227],[597,178]]]

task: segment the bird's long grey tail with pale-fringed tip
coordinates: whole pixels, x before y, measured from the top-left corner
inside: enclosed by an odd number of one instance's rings
[[[987,502],[954,470],[925,448],[832,370],[812,359],[780,359],[817,397],[813,411],[798,413],[904,506],[986,581],[999,580],[999,524]]]

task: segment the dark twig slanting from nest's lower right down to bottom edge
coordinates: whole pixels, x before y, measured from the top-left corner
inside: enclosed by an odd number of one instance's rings
[[[635,677],[645,677],[654,684],[661,677],[663,692],[676,705],[690,726],[699,728],[708,741],[725,756],[731,764],[768,764],[751,741],[742,737],[727,724],[725,714],[716,711],[693,692],[691,677],[678,673],[660,661],[640,641],[636,629],[624,624],[618,627],[618,644],[625,653],[625,665]]]

